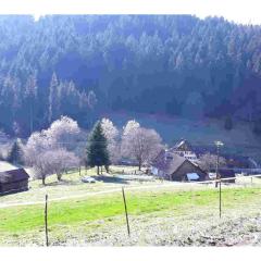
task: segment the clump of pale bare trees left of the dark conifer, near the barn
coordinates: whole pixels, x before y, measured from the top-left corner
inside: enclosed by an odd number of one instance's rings
[[[24,160],[33,166],[44,185],[48,175],[55,173],[60,181],[64,171],[78,166],[78,158],[66,150],[74,146],[78,133],[77,123],[62,116],[50,128],[30,135],[24,147]]]

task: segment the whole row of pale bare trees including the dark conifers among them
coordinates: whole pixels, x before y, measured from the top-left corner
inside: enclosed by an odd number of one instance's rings
[[[61,181],[69,170],[82,166],[97,166],[99,175],[102,166],[110,172],[111,164],[122,164],[123,160],[140,171],[141,166],[151,164],[163,148],[160,135],[141,127],[135,120],[119,129],[109,119],[102,119],[87,135],[76,121],[61,116],[24,142],[17,138],[4,151],[5,156],[1,151],[0,157],[12,164],[33,167],[34,178],[46,185],[48,175],[55,174]]]

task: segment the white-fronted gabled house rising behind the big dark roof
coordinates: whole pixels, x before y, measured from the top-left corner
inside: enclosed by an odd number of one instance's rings
[[[182,139],[179,140],[174,147],[172,147],[170,152],[176,153],[181,157],[184,157],[185,159],[191,161],[192,163],[198,162],[198,157],[192,150],[191,145],[186,140]]]

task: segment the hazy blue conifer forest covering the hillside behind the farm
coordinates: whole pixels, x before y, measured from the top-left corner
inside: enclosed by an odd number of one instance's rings
[[[261,26],[190,15],[0,16],[0,128],[104,111],[261,119]]]

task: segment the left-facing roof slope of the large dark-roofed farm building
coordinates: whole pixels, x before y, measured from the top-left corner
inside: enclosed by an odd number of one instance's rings
[[[184,157],[162,150],[152,163],[158,170],[165,174],[175,172],[185,161]]]

